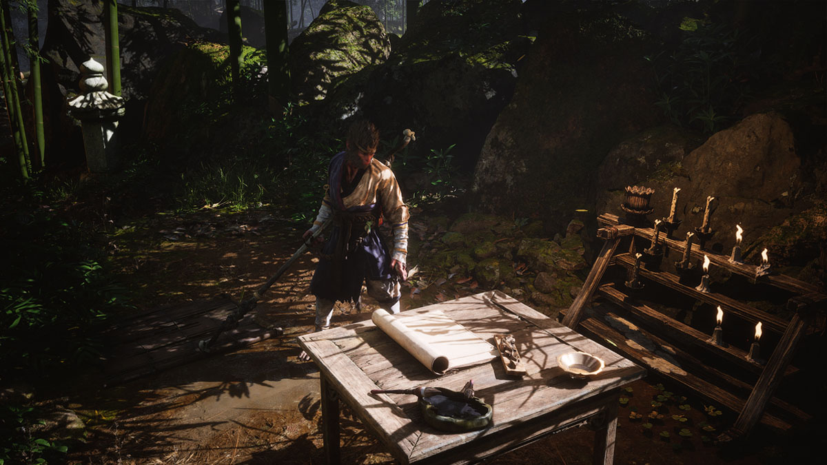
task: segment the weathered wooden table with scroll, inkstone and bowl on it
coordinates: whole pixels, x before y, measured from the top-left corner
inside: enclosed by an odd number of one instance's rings
[[[339,462],[342,400],[384,442],[399,463],[468,463],[504,453],[586,421],[597,429],[595,463],[613,463],[621,386],[645,370],[598,343],[499,291],[471,295],[409,312],[442,310],[494,345],[494,335],[517,340],[528,376],[505,375],[499,357],[437,376],[370,320],[299,337],[321,372],[324,448]],[[575,380],[557,367],[572,350],[605,361],[604,372]],[[486,429],[448,434],[425,424],[415,395],[370,395],[371,389],[439,386],[459,391],[474,380],[476,395],[494,409]]]

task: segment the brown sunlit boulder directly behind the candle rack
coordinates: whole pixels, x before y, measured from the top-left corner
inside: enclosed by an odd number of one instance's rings
[[[779,113],[757,113],[733,127],[713,134],[686,156],[683,151],[691,139],[672,132],[662,147],[666,162],[650,161],[637,173],[614,170],[615,165],[639,163],[640,137],[619,144],[600,167],[597,185],[601,186],[596,209],[603,213],[623,213],[625,185],[645,185],[655,189],[651,206],[653,218],[666,217],[672,204],[672,189],[679,188],[676,218],[681,219],[677,238],[683,238],[702,222],[707,196],[715,197],[710,226],[715,236],[713,250],[728,251],[734,245],[735,225],[744,229],[744,246],[782,224],[795,212],[794,197],[800,190],[801,157],[790,125]],[[671,146],[672,149],[667,149]],[[817,223],[817,222],[816,222]],[[758,251],[760,252],[760,251]]]

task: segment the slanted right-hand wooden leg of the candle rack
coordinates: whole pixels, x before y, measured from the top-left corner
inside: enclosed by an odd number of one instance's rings
[[[758,377],[758,382],[755,383],[755,387],[753,388],[753,392],[750,393],[747,403],[743,405],[743,410],[741,410],[741,413],[738,415],[738,419],[735,420],[732,428],[724,433],[724,435],[729,436],[729,438],[724,438],[723,440],[736,439],[741,434],[749,434],[753,426],[758,422],[758,419],[761,418],[767,402],[778,387],[778,383],[782,380],[786,366],[790,364],[798,341],[804,336],[807,325],[810,323],[809,317],[809,314],[793,315],[781,340],[778,341],[777,347],[772,351],[772,356],[770,356],[769,362],[767,362],[767,367],[764,368],[761,376]]]

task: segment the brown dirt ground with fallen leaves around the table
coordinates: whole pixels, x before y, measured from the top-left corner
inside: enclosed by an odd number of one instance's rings
[[[414,242],[428,241],[435,231],[417,212],[411,225]],[[118,225],[106,247],[139,307],[151,309],[222,294],[240,299],[294,252],[302,232],[275,209],[203,210]],[[308,285],[316,260],[304,256],[252,315],[261,325],[284,328],[283,337],[121,386],[99,388],[91,375],[75,381],[83,389],[63,400],[84,419],[86,443],[69,454],[69,463],[323,463],[318,371],[313,362],[299,362],[296,342],[313,328]],[[422,273],[432,283],[442,281],[440,271]],[[404,289],[403,309],[436,303],[437,295],[481,291],[457,278],[416,294]],[[366,319],[374,308],[370,300],[362,314],[339,305],[333,323]],[[791,463],[784,460],[790,439],[762,431],[737,448],[715,446],[710,438],[734,416],[714,415],[715,409],[710,416],[691,394],[659,383],[644,378],[624,395],[615,463]],[[342,416],[342,463],[392,461],[347,408]],[[590,463],[593,438],[589,429],[568,429],[490,463]]]

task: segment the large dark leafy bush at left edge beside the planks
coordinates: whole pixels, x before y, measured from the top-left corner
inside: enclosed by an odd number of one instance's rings
[[[92,238],[50,210],[24,204],[0,213],[0,358],[20,374],[97,360],[100,325],[127,305]]]

